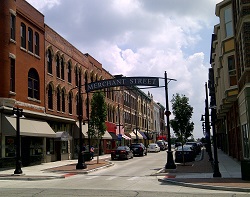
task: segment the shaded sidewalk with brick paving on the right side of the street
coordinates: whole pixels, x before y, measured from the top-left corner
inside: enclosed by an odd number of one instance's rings
[[[208,153],[203,150],[195,162],[176,164],[175,170],[161,170],[158,180],[162,183],[171,183],[186,187],[250,192],[250,181],[241,179],[240,163],[218,149],[219,171],[221,177],[213,177],[213,168]]]

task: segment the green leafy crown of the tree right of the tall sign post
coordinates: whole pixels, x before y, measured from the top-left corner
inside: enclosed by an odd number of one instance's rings
[[[183,143],[192,136],[194,123],[191,122],[193,107],[189,105],[189,99],[185,95],[173,95],[171,100],[174,119],[170,120],[170,126],[178,140]]]

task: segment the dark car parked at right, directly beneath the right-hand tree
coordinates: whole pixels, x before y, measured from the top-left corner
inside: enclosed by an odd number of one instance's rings
[[[192,149],[192,145],[183,145],[178,146],[175,151],[175,162],[183,163],[183,154],[184,153],[184,162],[192,162],[195,161],[195,151]]]

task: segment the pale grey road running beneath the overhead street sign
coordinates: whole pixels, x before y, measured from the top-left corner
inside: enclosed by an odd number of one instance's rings
[[[0,196],[249,196],[161,183],[153,174],[166,164],[167,153],[148,153],[92,172],[65,179],[0,181]]]

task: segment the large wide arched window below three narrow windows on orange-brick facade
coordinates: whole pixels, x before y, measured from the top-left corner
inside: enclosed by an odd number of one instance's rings
[[[39,76],[34,68],[28,73],[28,97],[39,100]]]

